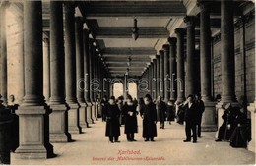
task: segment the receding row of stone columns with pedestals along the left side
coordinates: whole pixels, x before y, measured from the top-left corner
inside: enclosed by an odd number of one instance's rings
[[[98,100],[107,77],[89,30],[82,17],[75,17],[75,3],[50,2],[50,31],[42,31],[42,2],[24,2],[24,91],[19,115],[20,145],[17,158],[53,156],[50,142],[69,142],[71,134],[94,123]],[[63,15],[64,8],[64,15]],[[1,94],[7,105],[7,49],[5,10],[1,7]],[[65,19],[63,19],[65,18]],[[65,42],[64,42],[65,41]],[[92,85],[94,84],[94,85]]]

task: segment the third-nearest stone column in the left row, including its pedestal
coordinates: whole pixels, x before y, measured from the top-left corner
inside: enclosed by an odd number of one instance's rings
[[[68,124],[69,132],[80,134],[79,104],[77,101],[76,78],[76,40],[75,40],[75,5],[73,2],[64,3],[65,12],[65,84],[66,102],[69,106]]]

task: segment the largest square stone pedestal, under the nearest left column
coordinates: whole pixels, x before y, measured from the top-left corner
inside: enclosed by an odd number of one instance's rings
[[[20,126],[20,146],[15,158],[46,159],[54,156],[49,142],[49,113],[47,106],[20,106],[17,110]]]

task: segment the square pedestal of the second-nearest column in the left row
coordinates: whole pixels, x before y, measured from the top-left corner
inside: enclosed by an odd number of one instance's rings
[[[68,107],[65,104],[50,105],[50,142],[70,142],[68,132]]]

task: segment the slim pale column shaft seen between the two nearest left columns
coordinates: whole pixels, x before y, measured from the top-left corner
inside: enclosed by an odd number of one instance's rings
[[[43,38],[43,95],[48,103],[50,98],[50,47],[49,38]]]

